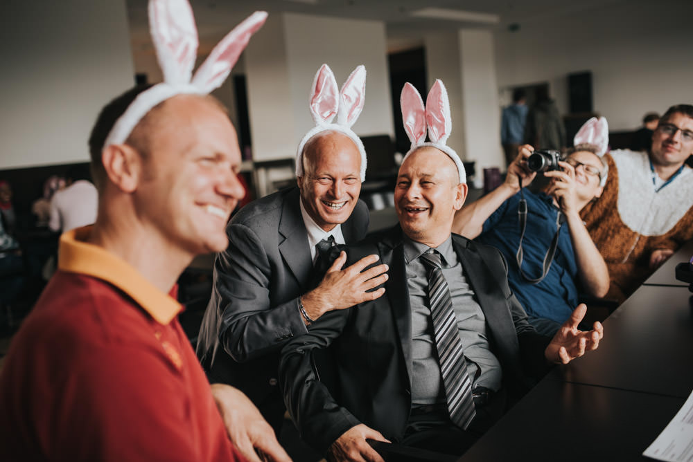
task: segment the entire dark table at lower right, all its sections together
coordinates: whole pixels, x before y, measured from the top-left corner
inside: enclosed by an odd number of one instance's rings
[[[604,322],[604,339],[555,367],[459,461],[637,461],[693,389],[687,243]],[[654,285],[651,285],[654,284]]]

